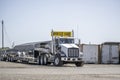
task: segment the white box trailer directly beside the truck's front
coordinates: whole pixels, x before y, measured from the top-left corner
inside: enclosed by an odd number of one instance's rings
[[[100,47],[95,44],[84,44],[82,46],[83,60],[85,63],[99,63]]]

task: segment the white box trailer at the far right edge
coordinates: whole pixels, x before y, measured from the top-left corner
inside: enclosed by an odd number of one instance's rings
[[[119,63],[119,45],[103,44],[102,45],[102,63],[105,64],[118,64]]]

